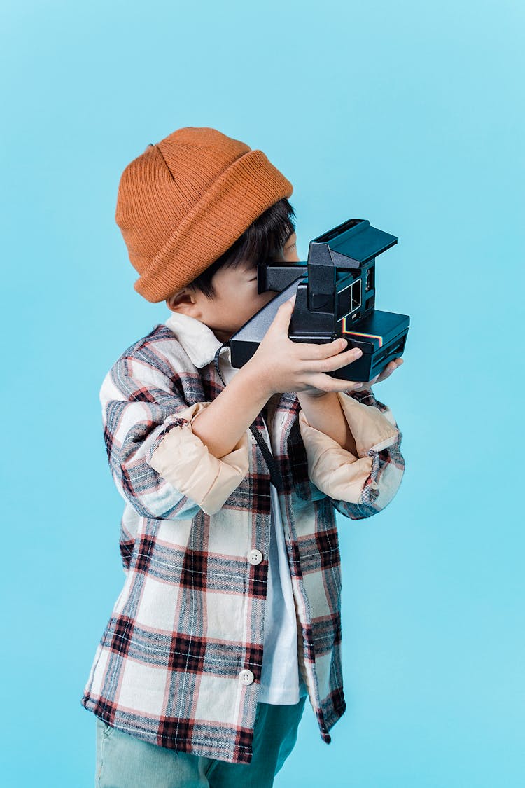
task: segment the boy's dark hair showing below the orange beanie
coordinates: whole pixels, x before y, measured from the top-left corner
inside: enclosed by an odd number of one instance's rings
[[[279,199],[264,214],[257,217],[235,243],[220,255],[209,268],[187,284],[192,290],[200,290],[209,299],[216,296],[212,278],[221,268],[238,268],[243,263],[256,268],[282,251],[284,244],[295,232],[294,209],[286,197]]]

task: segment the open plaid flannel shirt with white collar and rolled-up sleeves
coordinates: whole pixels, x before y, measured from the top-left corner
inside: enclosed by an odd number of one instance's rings
[[[124,351],[102,383],[109,467],[125,501],[126,578],[82,704],[146,742],[250,763],[270,475],[250,430],[220,459],[192,433],[192,419],[224,388],[213,355],[198,364],[159,324]],[[364,519],[390,503],[405,467],[401,433],[371,391],[339,392],[356,457],[309,425],[294,393],[276,397],[267,422],[284,481],[279,505],[299,667],[321,737],[330,742],[346,708],[335,513]],[[261,414],[255,426],[265,434]],[[250,563],[254,549],[260,563]]]

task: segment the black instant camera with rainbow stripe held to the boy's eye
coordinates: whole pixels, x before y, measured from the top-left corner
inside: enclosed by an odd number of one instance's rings
[[[397,237],[349,219],[310,241],[308,262],[264,262],[257,266],[258,292],[277,293],[230,338],[231,365],[246,364],[264,339],[280,305],[296,294],[288,336],[294,342],[324,344],[342,336],[360,348],[357,361],[329,374],[371,381],[403,355],[408,314],[375,309],[375,258]]]

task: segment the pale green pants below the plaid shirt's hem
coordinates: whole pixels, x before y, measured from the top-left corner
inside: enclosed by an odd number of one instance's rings
[[[270,788],[297,741],[305,697],[294,706],[257,704],[250,764],[178,753],[97,719],[96,788]]]

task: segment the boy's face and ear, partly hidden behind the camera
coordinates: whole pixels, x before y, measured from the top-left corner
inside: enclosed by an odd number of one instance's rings
[[[275,262],[299,262],[296,240],[293,233]],[[169,299],[167,303],[172,311],[187,314],[207,325],[221,342],[229,340],[276,295],[275,290],[257,292],[257,269],[249,266],[220,269],[212,282],[216,292],[213,300],[204,293],[184,288],[175,301]]]

